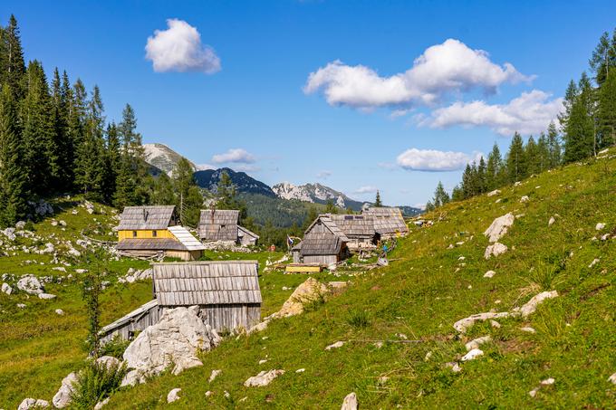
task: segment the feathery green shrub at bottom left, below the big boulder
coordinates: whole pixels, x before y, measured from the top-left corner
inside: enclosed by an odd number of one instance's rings
[[[108,367],[105,363],[88,362],[73,385],[72,405],[80,409],[93,408],[120,387],[127,373],[125,364]]]

